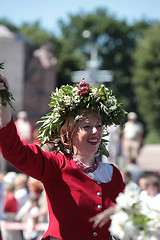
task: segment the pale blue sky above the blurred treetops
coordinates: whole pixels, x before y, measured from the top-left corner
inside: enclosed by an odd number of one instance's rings
[[[17,26],[39,20],[46,30],[56,32],[58,20],[67,20],[69,13],[87,13],[98,7],[108,9],[109,14],[128,23],[142,18],[160,20],[159,0],[5,0],[0,4],[0,18],[7,18]]]

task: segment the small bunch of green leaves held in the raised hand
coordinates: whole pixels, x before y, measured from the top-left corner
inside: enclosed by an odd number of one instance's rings
[[[0,70],[4,69],[4,62],[0,63]],[[2,80],[1,80],[2,81]],[[15,111],[12,100],[15,100],[13,94],[8,90],[8,87],[5,85],[6,89],[0,91],[0,97],[2,98],[2,106],[6,106],[7,103],[11,106],[11,108]]]

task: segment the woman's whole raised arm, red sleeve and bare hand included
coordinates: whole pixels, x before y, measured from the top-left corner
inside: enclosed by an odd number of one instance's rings
[[[7,80],[0,75],[0,93],[5,90],[9,84]],[[41,180],[43,172],[43,154],[37,145],[27,145],[20,141],[17,135],[16,127],[12,121],[10,104],[3,106],[0,94],[0,151],[7,161],[14,165],[20,171]]]

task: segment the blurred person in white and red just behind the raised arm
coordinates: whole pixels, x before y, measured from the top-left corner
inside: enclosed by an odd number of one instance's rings
[[[28,113],[26,111],[20,111],[17,117],[15,124],[21,140],[27,143],[33,143],[34,125],[28,120]]]

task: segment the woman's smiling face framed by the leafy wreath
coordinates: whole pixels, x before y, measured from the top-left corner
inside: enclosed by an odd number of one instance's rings
[[[101,120],[96,114],[84,118],[72,135],[74,155],[91,157],[98,150],[102,138]]]

